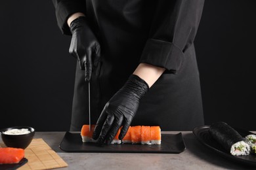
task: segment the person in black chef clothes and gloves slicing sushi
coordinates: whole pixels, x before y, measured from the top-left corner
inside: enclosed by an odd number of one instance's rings
[[[203,125],[194,39],[203,0],[53,0],[77,58],[71,131],[110,143],[122,127]],[[90,82],[90,85],[89,83]]]

